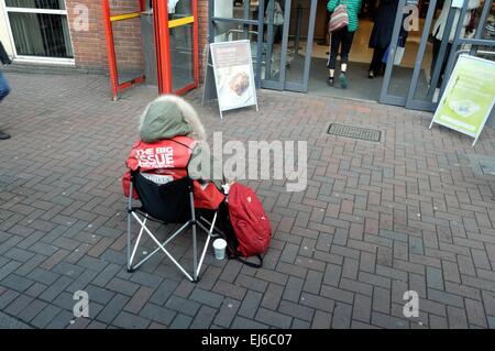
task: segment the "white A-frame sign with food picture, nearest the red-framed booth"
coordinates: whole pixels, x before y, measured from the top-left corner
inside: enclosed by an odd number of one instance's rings
[[[248,106],[257,110],[250,41],[211,43],[210,51],[220,116]]]

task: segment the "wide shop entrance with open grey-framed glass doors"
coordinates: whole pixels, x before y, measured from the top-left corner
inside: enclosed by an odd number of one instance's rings
[[[380,0],[362,0],[346,89],[338,84],[327,86],[327,0],[210,0],[210,42],[250,39],[257,83],[263,88],[432,111],[459,51],[495,58],[490,30],[493,1],[394,1],[395,13],[387,17],[392,37],[383,57],[385,69],[370,79],[372,19],[381,8]],[[439,19],[442,32],[433,39],[430,34]]]

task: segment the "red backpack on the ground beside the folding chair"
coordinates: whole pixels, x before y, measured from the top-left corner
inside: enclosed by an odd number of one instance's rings
[[[256,194],[249,187],[234,183],[229,189],[227,209],[223,208],[223,231],[229,255],[251,266],[261,267],[262,253],[266,252],[272,237],[272,226]],[[261,264],[241,257],[257,256]]]

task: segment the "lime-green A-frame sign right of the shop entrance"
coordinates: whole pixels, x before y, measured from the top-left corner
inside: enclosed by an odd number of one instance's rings
[[[430,124],[474,138],[483,131],[495,103],[495,62],[461,55]]]

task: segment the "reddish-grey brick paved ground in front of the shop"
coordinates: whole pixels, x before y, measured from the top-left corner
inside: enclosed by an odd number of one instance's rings
[[[0,311],[35,328],[495,327],[492,131],[427,129],[429,113],[262,92],[261,112],[201,110],[224,140],[307,140],[309,186],[252,182],[273,222],[265,266],[217,262],[198,284],[167,260],[125,271],[120,177],[136,114],[155,92],[110,102],[107,78],[9,74],[0,107]],[[199,106],[199,91],[189,97]],[[330,122],[378,128],[383,143],[326,134]],[[477,169],[477,171],[476,171]],[[190,254],[187,238],[174,246]],[[74,292],[90,318],[73,319]],[[403,294],[420,296],[419,318]],[[11,323],[11,321],[9,321]]]

